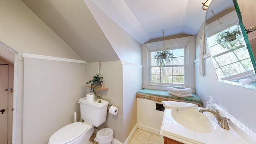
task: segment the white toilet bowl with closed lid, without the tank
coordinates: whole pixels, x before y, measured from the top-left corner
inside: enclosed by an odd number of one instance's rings
[[[86,122],[74,122],[52,134],[48,144],[92,144],[90,137],[93,132],[94,126]]]

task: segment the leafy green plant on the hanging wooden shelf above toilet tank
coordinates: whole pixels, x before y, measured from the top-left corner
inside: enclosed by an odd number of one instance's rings
[[[91,90],[94,92],[95,100],[97,100],[98,98],[98,94],[96,93],[95,90],[102,88],[102,82],[103,82],[103,77],[100,76],[100,74],[96,74],[95,76],[93,76],[92,80],[89,80],[88,82],[86,82],[86,84],[91,84]]]

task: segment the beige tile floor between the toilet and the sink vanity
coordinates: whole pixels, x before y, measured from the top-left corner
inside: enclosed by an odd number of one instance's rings
[[[92,134],[90,140],[93,144],[98,144],[98,142],[94,141],[95,136],[95,134]],[[137,129],[129,144],[164,144],[164,138],[163,136]]]

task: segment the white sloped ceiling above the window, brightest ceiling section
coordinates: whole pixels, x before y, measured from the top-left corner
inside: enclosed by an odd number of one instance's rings
[[[92,0],[140,44],[178,34],[195,35],[204,21],[203,0]]]

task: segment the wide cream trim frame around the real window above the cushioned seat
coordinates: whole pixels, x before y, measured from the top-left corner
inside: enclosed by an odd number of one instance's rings
[[[150,51],[160,50],[163,41],[151,42],[142,45],[143,88],[166,90],[168,86],[186,86],[195,88],[195,36],[164,40],[165,48],[184,48],[184,84],[165,84],[150,82]]]

